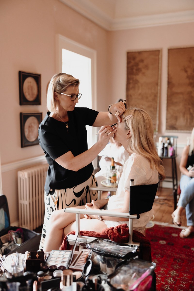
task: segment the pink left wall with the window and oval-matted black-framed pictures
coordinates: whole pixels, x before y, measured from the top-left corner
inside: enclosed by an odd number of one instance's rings
[[[2,168],[9,163],[44,155],[39,145],[21,148],[19,113],[42,112],[43,117],[46,114],[46,88],[56,73],[56,34],[97,51],[97,95],[102,97],[97,109],[106,110],[110,104],[106,86],[107,31],[58,0],[1,0]],[[41,74],[41,105],[19,105],[19,70]],[[2,171],[3,194],[8,198],[11,222],[18,220],[15,211],[18,205],[17,170]]]

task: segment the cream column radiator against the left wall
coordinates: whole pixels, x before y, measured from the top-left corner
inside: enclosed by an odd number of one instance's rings
[[[41,164],[17,172],[20,227],[34,230],[43,224],[47,170],[48,164]]]

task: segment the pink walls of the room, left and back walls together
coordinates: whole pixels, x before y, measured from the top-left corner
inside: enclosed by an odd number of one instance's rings
[[[162,49],[161,135],[165,134],[167,48],[193,46],[193,31],[194,23],[107,32],[58,0],[0,1],[0,150],[2,168],[11,163],[10,169],[2,171],[3,194],[8,198],[11,222],[18,220],[19,168],[13,163],[43,155],[39,145],[21,148],[19,113],[42,112],[43,116],[46,113],[46,87],[56,73],[56,34],[97,51],[98,110],[107,110],[108,104],[124,98],[128,50]],[[19,70],[41,74],[41,105],[19,105]],[[175,134],[184,145],[188,134]]]

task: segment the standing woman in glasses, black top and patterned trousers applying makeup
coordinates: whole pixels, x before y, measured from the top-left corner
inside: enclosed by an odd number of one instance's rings
[[[49,164],[45,183],[45,219],[40,249],[44,246],[47,224],[54,210],[85,205],[97,200],[92,161],[106,146],[125,111],[123,102],[109,106],[109,112],[75,107],[81,98],[79,79],[69,74],[55,74],[47,92],[47,112],[39,127],[39,142]],[[116,114],[117,113],[117,114]],[[99,139],[90,149],[86,125],[100,127]],[[105,134],[106,133],[106,134]]]

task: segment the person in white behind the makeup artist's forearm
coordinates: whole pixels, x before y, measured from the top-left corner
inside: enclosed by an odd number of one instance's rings
[[[102,180],[106,179],[106,173],[108,173],[107,170],[110,169],[111,166],[111,158],[113,157],[114,159],[115,168],[119,168],[117,166],[123,167],[127,151],[121,143],[115,141],[113,136],[111,136],[109,143],[105,146],[102,152],[99,153],[99,156],[102,156],[99,161],[101,170],[95,174],[98,186],[100,186]],[[121,169],[119,172],[122,172]]]

